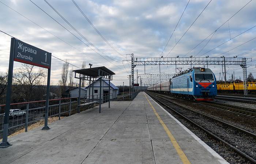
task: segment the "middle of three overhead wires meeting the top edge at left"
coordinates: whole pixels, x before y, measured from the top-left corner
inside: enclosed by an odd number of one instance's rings
[[[31,0],[30,0],[31,1]],[[101,50],[99,50],[99,48],[97,48],[93,43],[91,43],[87,38],[85,38],[78,30],[76,30],[76,28],[74,26],[72,26],[72,24],[70,24],[51,4],[48,3],[48,1],[44,0],[52,9],[53,11],[55,11],[73,30],[75,30],[84,40],[86,40],[91,46],[93,46],[96,50],[98,50],[99,52],[101,52],[103,55],[105,55],[107,58],[114,60],[113,58],[109,57],[108,55],[106,55],[104,52],[102,52]],[[89,46],[90,47],[90,46]],[[90,47],[91,48],[91,47]],[[93,50],[93,48],[91,48]],[[95,51],[96,52],[96,51]],[[105,58],[106,59],[106,58]],[[108,60],[108,59],[106,59]],[[109,60],[108,60],[109,61]],[[116,60],[114,60],[115,62],[118,62]],[[110,61],[109,61],[110,62]],[[110,62],[112,63],[112,62]],[[118,62],[120,63],[120,62]],[[112,63],[114,65],[114,63]],[[116,65],[115,65],[116,66]],[[118,66],[117,66],[118,67]]]

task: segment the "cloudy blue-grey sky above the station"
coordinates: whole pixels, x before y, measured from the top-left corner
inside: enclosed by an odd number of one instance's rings
[[[93,67],[106,66],[116,73],[113,77],[113,83],[116,85],[123,84],[123,81],[125,85],[129,85],[127,75],[131,72],[131,64],[123,62],[123,60],[130,60],[131,58],[127,56],[126,59],[126,54],[133,53],[135,57],[161,56],[188,3],[188,0],[74,0],[90,22],[108,41],[110,47],[84,18],[72,0],[47,1],[76,31],[57,15],[45,1],[31,1],[0,0],[0,30],[23,42],[52,52],[52,55],[60,59],[68,59],[70,63],[78,67],[81,67],[83,61],[86,61],[87,67],[89,67],[89,63],[92,63]],[[256,1],[212,0],[209,2],[210,0],[189,1],[162,55],[168,54],[167,57],[177,55],[184,57],[191,55],[196,57],[207,55],[210,57],[222,55],[233,57],[238,55],[238,57],[252,58],[252,60],[248,59],[248,65],[256,64],[256,39],[254,39],[256,37]],[[246,5],[247,3],[248,5]],[[244,5],[246,6],[244,7]],[[203,11],[205,7],[206,9]],[[242,7],[244,8],[241,9]],[[239,11],[240,9],[241,11]],[[234,15],[237,11],[239,12]],[[195,21],[201,12],[202,14]],[[231,16],[233,17],[225,23]],[[195,23],[193,23],[194,21]],[[225,24],[217,30],[223,23]],[[241,34],[242,32],[244,33]],[[182,37],[182,35],[184,36]],[[207,36],[209,37],[199,44]],[[97,49],[93,46],[86,46],[90,43],[84,38],[89,40]],[[8,68],[10,42],[11,37],[0,32],[0,71],[3,72]],[[224,42],[226,43],[219,46]],[[199,46],[193,49],[197,44]],[[176,46],[174,47],[174,45]],[[217,46],[219,47],[215,48]],[[215,49],[206,53],[212,48]],[[226,53],[222,54],[223,52]],[[60,79],[62,64],[61,60],[52,58],[51,81],[54,84]],[[20,63],[15,62],[14,67],[18,68],[19,66]],[[187,69],[190,66],[181,67]],[[219,79],[221,67],[209,66],[209,68]],[[77,68],[73,66],[73,69]],[[136,66],[135,69],[138,69],[139,74],[144,73],[143,66]],[[227,79],[233,71],[235,71],[237,78],[242,77],[241,67],[227,66]],[[175,66],[161,66],[161,72],[175,73]],[[249,66],[248,72],[252,72],[256,77],[255,66]],[[146,66],[146,73],[159,73],[159,66]]]

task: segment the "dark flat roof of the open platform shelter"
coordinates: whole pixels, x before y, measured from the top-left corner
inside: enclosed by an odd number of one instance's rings
[[[113,71],[109,70],[105,66],[73,70],[73,72],[78,73],[80,75],[87,76],[87,77],[92,77],[92,78],[99,78],[99,77],[106,78],[108,76],[115,75]]]

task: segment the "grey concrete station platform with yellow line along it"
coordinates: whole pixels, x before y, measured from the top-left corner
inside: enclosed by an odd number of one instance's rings
[[[9,138],[0,163],[227,163],[143,92],[49,126]]]

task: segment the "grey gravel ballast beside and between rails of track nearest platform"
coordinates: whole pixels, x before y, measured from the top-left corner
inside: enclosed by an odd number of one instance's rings
[[[175,98],[173,98],[175,99]],[[172,104],[172,107],[175,105]],[[193,112],[189,112],[188,110],[180,109],[180,107],[176,107],[180,112],[182,112],[185,116],[191,118],[193,121],[197,122],[199,125],[202,125],[204,128],[208,129],[214,134],[221,138],[225,138],[227,142],[231,145],[234,145],[238,149],[243,152],[246,152],[249,156],[256,158],[256,140],[237,132],[236,130],[229,129],[219,123],[214,123],[212,120],[204,118],[203,116],[196,115]],[[167,109],[170,112],[170,110]],[[176,114],[173,114],[178,120],[182,122],[187,128],[189,128],[193,133],[195,133],[201,140],[206,142],[212,149],[214,149],[217,153],[219,153],[224,159],[226,159],[229,163],[245,163],[244,159],[238,156],[236,153],[229,150],[229,148],[219,144],[215,140],[209,138],[206,133],[202,132],[202,130],[195,128],[189,122],[180,119]]]

